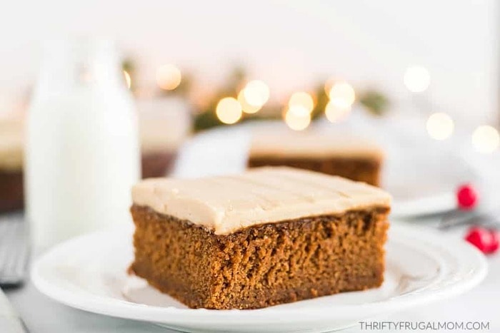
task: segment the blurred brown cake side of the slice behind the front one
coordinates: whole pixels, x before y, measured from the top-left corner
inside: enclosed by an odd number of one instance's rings
[[[370,185],[380,185],[380,158],[329,157],[329,158],[274,158],[254,156],[249,158],[250,168],[286,165],[293,168],[318,171],[327,175],[339,175]]]

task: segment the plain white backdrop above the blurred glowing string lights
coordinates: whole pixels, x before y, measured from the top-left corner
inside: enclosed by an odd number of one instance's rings
[[[210,87],[245,63],[274,98],[334,76],[404,106],[404,70],[421,64],[433,111],[479,124],[496,121],[497,11],[494,0],[3,1],[0,95],[34,81],[40,41],[91,34],[119,40],[142,82],[176,63]]]

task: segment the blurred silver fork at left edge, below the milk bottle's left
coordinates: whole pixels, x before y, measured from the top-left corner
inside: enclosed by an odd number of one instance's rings
[[[29,257],[26,222],[20,213],[0,217],[0,287],[18,287]]]

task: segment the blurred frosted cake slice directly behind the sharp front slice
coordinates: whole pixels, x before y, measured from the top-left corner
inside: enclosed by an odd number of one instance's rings
[[[383,160],[373,140],[349,133],[259,130],[252,135],[248,165],[288,165],[379,186]]]

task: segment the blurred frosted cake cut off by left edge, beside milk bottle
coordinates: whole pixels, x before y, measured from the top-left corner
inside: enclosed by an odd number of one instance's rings
[[[24,206],[23,139],[23,118],[0,116],[0,212]]]

